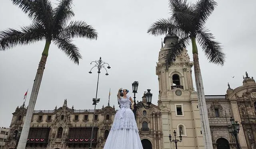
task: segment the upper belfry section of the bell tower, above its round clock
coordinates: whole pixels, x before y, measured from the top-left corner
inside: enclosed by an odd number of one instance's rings
[[[166,53],[166,47],[168,44],[173,44],[178,41],[178,37],[174,34],[167,34],[164,37],[164,46],[162,47],[158,56],[158,63],[156,66],[156,75],[158,75],[159,81],[159,100],[167,97],[167,92],[175,88],[182,90],[192,91],[192,66],[193,62],[190,61],[188,51],[184,48],[182,55],[176,58],[176,61],[171,67],[166,70],[164,66],[164,53]]]

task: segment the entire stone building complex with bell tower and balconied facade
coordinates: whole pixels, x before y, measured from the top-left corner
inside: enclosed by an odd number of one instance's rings
[[[163,55],[167,44],[176,42],[176,35],[168,34],[159,52],[156,75],[159,81],[158,105],[138,108],[136,122],[144,149],[204,149],[198,108],[198,95],[192,81],[193,62],[187,50],[166,70]],[[214,149],[236,149],[236,138],[229,132],[230,118],[240,124],[237,135],[241,149],[256,149],[256,83],[248,73],[241,78],[242,86],[234,89],[228,84],[224,95],[205,95],[212,145]],[[141,95],[146,104],[145,95]],[[156,99],[155,99],[156,100]],[[72,104],[71,104],[72,105]],[[54,106],[53,106],[54,107]],[[70,108],[67,100],[54,110],[35,110],[27,139],[27,149],[88,149],[93,125],[93,149],[103,149],[116,110],[114,106],[94,110]],[[17,107],[4,149],[14,149],[22,129],[26,107]],[[93,119],[94,118],[94,119]]]

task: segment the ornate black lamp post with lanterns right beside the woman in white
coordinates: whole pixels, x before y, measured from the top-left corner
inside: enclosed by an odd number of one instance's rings
[[[138,85],[139,85],[139,82],[138,81],[134,81],[132,83],[132,92],[134,93],[134,109],[133,109],[133,113],[134,113],[134,117],[135,117],[135,120],[136,120],[136,114],[137,114],[137,110],[138,108],[142,108],[144,107],[145,109],[149,109],[149,106],[151,104],[151,101],[152,101],[152,93],[150,93],[150,89],[147,89],[148,92],[146,93],[146,101],[147,101],[147,104],[148,105],[145,105],[143,104],[142,102],[138,102],[136,103],[136,96],[135,94],[137,93],[137,90],[138,90]]]

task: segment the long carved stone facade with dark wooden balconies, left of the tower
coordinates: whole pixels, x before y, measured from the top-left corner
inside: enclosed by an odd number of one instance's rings
[[[143,96],[142,102],[146,104],[145,96]],[[57,108],[56,106],[54,110],[35,110],[26,149],[88,149],[93,114],[94,110],[75,110],[74,106],[68,108],[67,100],[64,101],[62,107]],[[114,106],[96,109],[93,149],[103,149],[115,114]],[[4,149],[15,148],[16,136],[14,134],[22,129],[25,115],[24,105],[16,108]],[[138,108],[136,118],[142,144],[151,146],[152,149],[161,149],[163,137],[160,108],[154,104],[151,104],[148,110]]]

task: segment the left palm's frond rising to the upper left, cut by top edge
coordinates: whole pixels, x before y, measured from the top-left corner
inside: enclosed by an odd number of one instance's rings
[[[52,4],[49,0],[12,0],[12,2],[28,14],[33,23],[50,27],[52,22]]]

